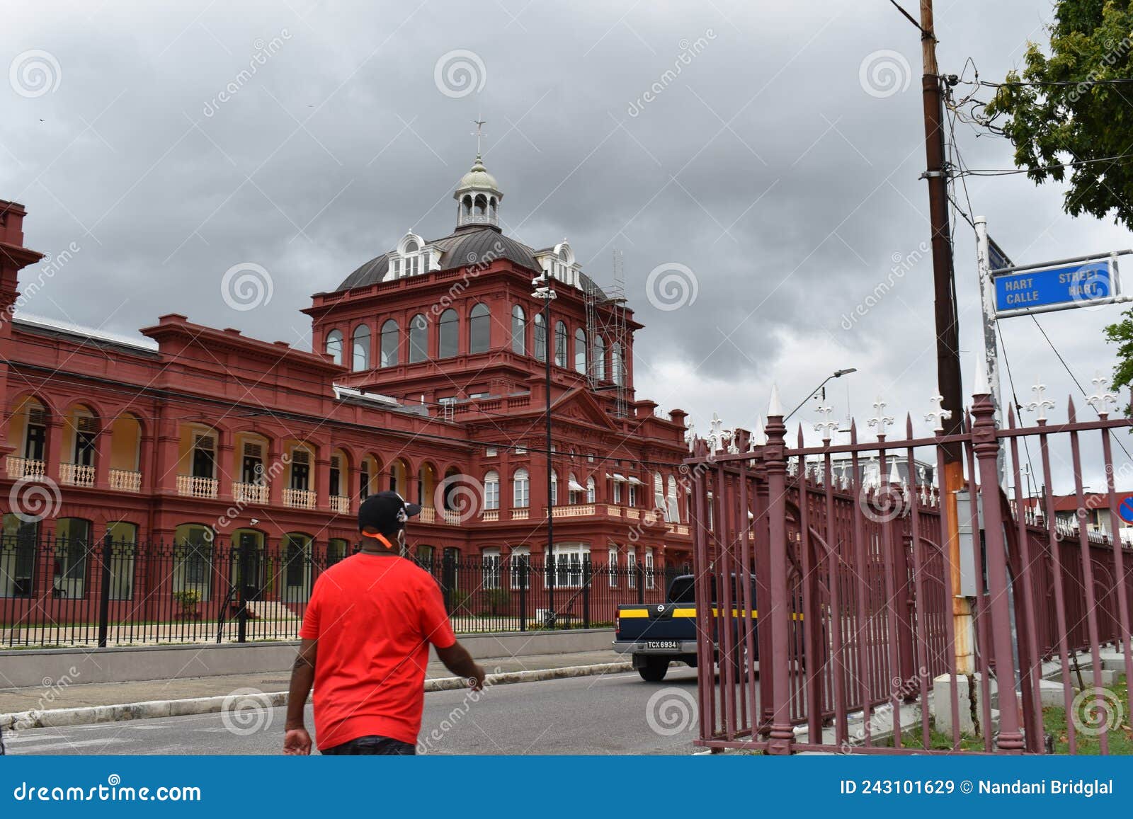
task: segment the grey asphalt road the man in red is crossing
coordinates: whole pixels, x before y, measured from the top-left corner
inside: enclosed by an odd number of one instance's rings
[[[425,696],[420,736],[429,753],[692,753],[695,698],[696,669],[685,667],[659,684],[633,672],[499,685],[478,696],[438,691]],[[279,753],[283,722],[282,708],[250,708],[6,732],[5,740],[11,754]]]

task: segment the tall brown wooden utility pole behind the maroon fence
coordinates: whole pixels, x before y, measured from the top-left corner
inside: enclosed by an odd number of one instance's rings
[[[963,430],[963,386],[960,379],[960,340],[956,326],[955,280],[952,270],[952,238],[948,229],[948,177],[944,151],[944,79],[936,65],[936,35],[932,0],[920,3],[921,57],[925,74],[921,89],[925,102],[925,156],[928,179],[929,220],[932,224],[932,282],[936,313],[936,367],[942,407],[952,415],[944,419],[944,434]],[[952,588],[960,589],[960,536],[956,517],[956,492],[964,486],[963,447],[949,443],[944,447],[944,475],[939,476],[952,562]],[[973,497],[972,503],[977,500]],[[971,607],[968,598],[955,594],[953,618],[956,626],[956,671],[971,674]]]

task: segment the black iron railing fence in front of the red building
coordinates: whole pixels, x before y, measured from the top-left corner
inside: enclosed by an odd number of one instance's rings
[[[342,545],[219,539],[0,539],[0,646],[293,640]],[[620,604],[664,599],[683,568],[522,554],[409,555],[437,581],[458,633],[610,625]]]

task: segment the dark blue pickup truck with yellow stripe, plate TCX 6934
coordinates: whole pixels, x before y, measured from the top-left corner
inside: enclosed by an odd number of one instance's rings
[[[683,662],[693,668],[697,666],[695,589],[696,578],[692,574],[680,574],[668,585],[665,603],[617,607],[614,620],[614,650],[631,655],[633,667],[646,682],[664,680],[670,663],[674,660]],[[755,600],[753,592],[752,589],[752,600]],[[738,631],[739,625],[740,622],[736,622]],[[742,650],[743,642],[735,641],[738,650]]]

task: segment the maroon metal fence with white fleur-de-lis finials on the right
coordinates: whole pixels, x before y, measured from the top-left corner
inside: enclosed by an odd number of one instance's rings
[[[876,441],[860,441],[851,425],[850,443],[835,445],[825,424],[820,445],[807,446],[800,428],[793,447],[773,401],[766,433],[738,429],[726,449],[718,430],[695,441],[685,468],[697,598],[719,590],[715,605],[697,607],[699,652],[736,660],[718,673],[699,665],[698,743],[1041,753],[1054,739],[1043,725],[1046,677],[1062,683],[1068,751],[1089,734],[1107,752],[1122,706],[1115,686],[1101,685],[1101,652],[1123,652],[1127,696],[1133,551],[1059,519],[1054,493],[1072,487],[1088,509],[1088,436],[1118,532],[1115,476],[1133,464],[1114,468],[1111,434],[1133,421],[1108,417],[1111,398],[1091,396],[1097,420],[1077,421],[1071,403],[1067,423],[1055,425],[1040,395],[1036,426],[1016,426],[1012,411],[997,429],[989,396],[977,395],[968,432],[915,438],[906,418],[902,440],[885,435],[893,419],[879,403]],[[970,496],[951,512],[934,479],[946,447],[962,454]],[[949,513],[959,515],[955,543]]]

